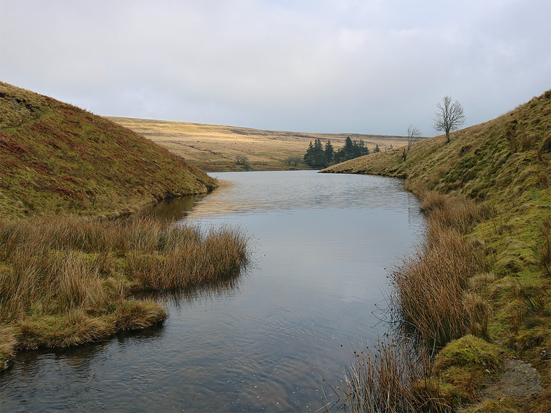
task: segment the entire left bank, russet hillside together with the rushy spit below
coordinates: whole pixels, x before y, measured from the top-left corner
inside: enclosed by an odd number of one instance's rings
[[[18,350],[158,323],[164,307],[136,294],[194,289],[244,268],[239,230],[131,215],[210,191],[206,173],[105,118],[6,83],[0,115],[0,369]]]

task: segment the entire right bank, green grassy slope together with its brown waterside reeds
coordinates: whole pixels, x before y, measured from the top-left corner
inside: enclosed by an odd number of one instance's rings
[[[548,91],[453,133],[449,144],[444,136],[419,142],[405,162],[396,149],[322,171],[406,178],[428,218],[418,254],[392,274],[403,325],[437,351],[422,373],[403,367],[407,410],[551,410],[550,162]],[[479,362],[482,354],[487,363]],[[543,391],[483,400],[481,389],[500,377],[507,358],[531,362]],[[381,366],[363,368],[388,371]],[[346,392],[353,395],[349,405],[362,397]]]

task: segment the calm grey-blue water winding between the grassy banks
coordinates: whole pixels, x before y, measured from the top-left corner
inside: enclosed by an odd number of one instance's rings
[[[323,406],[322,378],[336,383],[349,363],[341,344],[386,332],[375,304],[388,288],[386,269],[418,241],[418,204],[401,181],[385,177],[212,175],[220,188],[158,214],[240,226],[254,265],[236,280],[166,297],[170,318],[161,326],[20,354],[2,373],[2,412]]]

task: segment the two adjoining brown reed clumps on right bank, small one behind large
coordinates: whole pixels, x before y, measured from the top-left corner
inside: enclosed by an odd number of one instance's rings
[[[392,273],[404,323],[436,347],[467,333],[487,336],[490,306],[472,287],[485,269],[484,251],[463,236],[483,218],[483,208],[436,193],[423,197],[422,208],[428,217],[425,241]]]

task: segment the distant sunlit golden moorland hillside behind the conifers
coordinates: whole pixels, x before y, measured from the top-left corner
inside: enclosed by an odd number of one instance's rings
[[[246,156],[253,170],[285,170],[284,160],[289,156],[304,156],[310,141],[320,138],[331,140],[335,150],[344,145],[347,137],[363,139],[370,150],[379,144],[381,150],[403,145],[407,137],[387,135],[361,135],[345,133],[302,133],[262,131],[259,129],[202,123],[155,121],[110,117],[114,122],[164,146],[180,155],[190,165],[205,171],[240,171],[237,156]],[[298,167],[308,168],[306,164]]]

